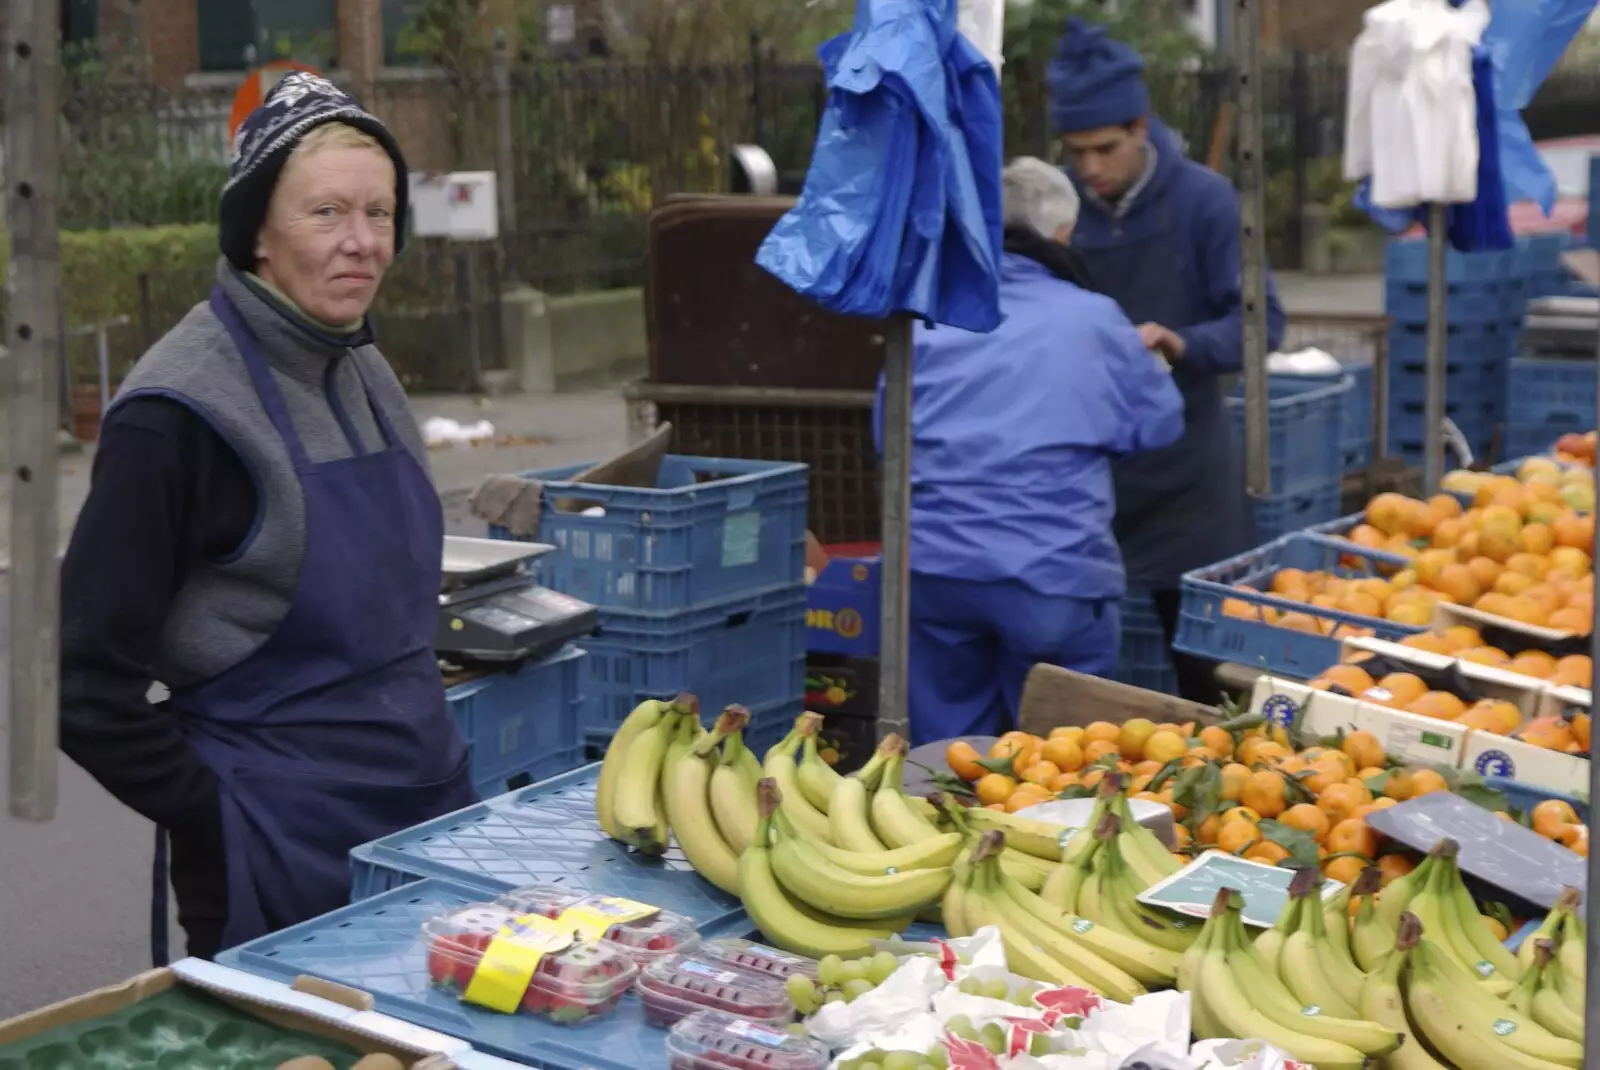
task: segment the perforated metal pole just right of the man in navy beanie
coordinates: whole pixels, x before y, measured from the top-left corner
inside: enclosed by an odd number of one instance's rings
[[[1261,8],[1238,0],[1234,11],[1234,64],[1238,93],[1238,229],[1245,365],[1245,481],[1250,493],[1272,493],[1267,454],[1267,232],[1266,173],[1261,160]]]

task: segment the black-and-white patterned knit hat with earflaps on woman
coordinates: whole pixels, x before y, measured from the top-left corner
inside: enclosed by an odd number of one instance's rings
[[[395,165],[395,253],[405,245],[410,178],[400,142],[376,115],[326,78],[302,70],[283,77],[261,107],[234,134],[234,160],[222,187],[218,237],[222,256],[242,272],[256,266],[256,235],[267,218],[267,202],[290,152],[323,123],[347,123],[371,134]]]

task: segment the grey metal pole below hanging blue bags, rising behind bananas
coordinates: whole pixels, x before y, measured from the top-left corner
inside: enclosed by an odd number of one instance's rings
[[[907,704],[910,630],[910,318],[894,317],[883,331],[883,561],[882,641],[878,656],[878,737],[910,736]]]

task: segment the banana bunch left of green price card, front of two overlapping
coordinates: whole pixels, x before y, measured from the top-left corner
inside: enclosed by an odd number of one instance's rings
[[[1123,852],[1131,844],[1134,840],[1123,833],[1122,819],[1107,812],[1090,846],[1072,860],[1062,857],[1061,870],[1046,881],[1042,897],[1056,910],[1182,955],[1200,936],[1200,923],[1139,902],[1150,884]]]

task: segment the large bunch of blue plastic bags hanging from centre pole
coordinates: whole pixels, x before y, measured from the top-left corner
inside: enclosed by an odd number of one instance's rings
[[[818,50],[811,170],[755,262],[834,312],[1000,323],[1000,85],[955,21],[955,0],[861,0]]]

